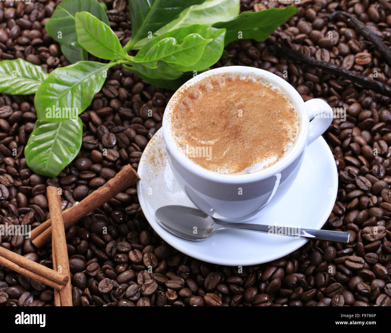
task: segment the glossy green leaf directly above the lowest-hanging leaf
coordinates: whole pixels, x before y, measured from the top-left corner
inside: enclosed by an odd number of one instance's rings
[[[79,61],[73,65],[56,68],[41,83],[35,94],[34,105],[39,120],[59,122],[69,117],[57,116],[56,108],[77,108],[82,113],[91,103],[93,95],[103,86],[106,68],[112,63]],[[56,116],[47,111],[54,108]],[[50,111],[51,112],[51,111]]]

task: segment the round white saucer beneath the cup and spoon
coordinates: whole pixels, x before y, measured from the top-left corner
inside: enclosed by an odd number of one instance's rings
[[[179,251],[199,260],[218,265],[256,265],[281,258],[307,240],[245,230],[225,230],[194,242],[172,235],[155,218],[155,210],[164,205],[195,207],[172,175],[161,129],[149,141],[140,163],[137,184],[141,208],[152,228],[163,240]],[[263,214],[250,223],[300,226],[321,229],[334,206],[338,174],[326,141],[319,137],[307,147],[301,170],[278,202],[269,202]]]

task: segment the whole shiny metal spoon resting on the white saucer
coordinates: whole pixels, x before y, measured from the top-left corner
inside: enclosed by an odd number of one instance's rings
[[[187,240],[204,240],[224,229],[243,229],[272,233],[296,238],[328,240],[348,243],[349,233],[343,231],[315,230],[305,228],[278,227],[274,225],[229,223],[215,220],[196,208],[171,205],[156,209],[159,224],[170,233]]]

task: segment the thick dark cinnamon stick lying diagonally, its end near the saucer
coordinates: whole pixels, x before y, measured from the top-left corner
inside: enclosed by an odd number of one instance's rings
[[[137,172],[130,165],[125,166],[114,178],[92,192],[88,197],[79,202],[79,204],[63,211],[65,229],[139,180],[140,177]],[[50,219],[40,224],[30,233],[32,243],[38,248],[50,242],[51,236],[52,227]]]

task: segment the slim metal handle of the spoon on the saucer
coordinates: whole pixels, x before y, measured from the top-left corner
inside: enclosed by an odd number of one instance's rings
[[[269,233],[282,236],[292,236],[295,238],[307,238],[307,239],[319,239],[328,240],[330,242],[348,243],[349,233],[344,231],[331,231],[331,230],[316,230],[305,229],[299,227],[280,227],[265,224],[252,224],[252,223],[224,223],[220,224],[222,229],[235,228],[244,230],[260,231],[262,233]]]

